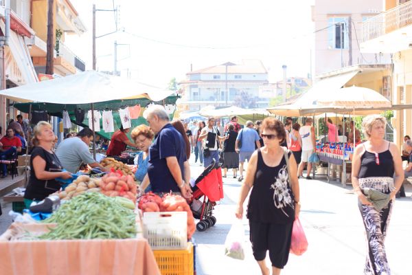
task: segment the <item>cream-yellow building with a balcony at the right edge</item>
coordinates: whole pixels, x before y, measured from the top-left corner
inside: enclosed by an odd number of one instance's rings
[[[376,17],[363,22],[361,52],[383,52],[393,56],[391,99],[393,104],[412,104],[412,1],[384,0],[385,7]],[[395,141],[402,144],[404,135],[412,133],[412,111],[395,112]]]

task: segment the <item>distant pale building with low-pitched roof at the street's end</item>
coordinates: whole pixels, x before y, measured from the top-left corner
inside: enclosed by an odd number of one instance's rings
[[[260,97],[260,87],[268,84],[268,72],[261,61],[225,63],[188,72],[186,76],[187,79],[179,83],[182,111],[198,111],[207,105],[268,106],[269,99]]]

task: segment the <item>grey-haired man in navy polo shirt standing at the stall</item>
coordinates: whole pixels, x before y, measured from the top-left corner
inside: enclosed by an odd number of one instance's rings
[[[182,135],[169,122],[168,113],[159,105],[144,111],[144,118],[155,132],[149,148],[148,177],[153,192],[181,192],[191,197],[190,166]]]

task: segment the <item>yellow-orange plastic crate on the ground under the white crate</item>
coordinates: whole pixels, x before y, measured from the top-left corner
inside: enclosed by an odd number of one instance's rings
[[[193,275],[193,243],[185,250],[153,250],[162,275]]]

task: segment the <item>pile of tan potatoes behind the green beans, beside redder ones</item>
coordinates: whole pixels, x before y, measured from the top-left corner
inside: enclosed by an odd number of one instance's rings
[[[99,182],[100,179],[94,179],[88,175],[81,175],[69,184],[65,190],[56,192],[52,195],[57,195],[62,201],[65,201],[84,192],[100,192]]]

